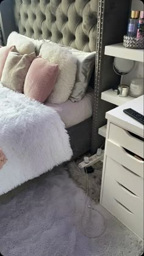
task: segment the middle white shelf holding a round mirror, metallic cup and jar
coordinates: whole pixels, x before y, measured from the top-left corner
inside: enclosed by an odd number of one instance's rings
[[[143,95],[144,88],[142,77],[130,77],[128,83],[126,83],[125,77],[133,72],[134,67],[134,60],[124,60],[123,58],[115,57],[113,60],[113,71],[121,76],[121,83],[107,91],[103,91],[101,93],[101,99],[115,104],[116,106],[120,106]],[[143,76],[143,74],[141,74],[141,76]]]

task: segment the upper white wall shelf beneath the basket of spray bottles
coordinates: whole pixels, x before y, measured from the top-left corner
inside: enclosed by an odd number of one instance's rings
[[[129,49],[123,46],[123,43],[107,45],[105,47],[105,55],[115,56],[128,60],[143,62],[143,50]]]

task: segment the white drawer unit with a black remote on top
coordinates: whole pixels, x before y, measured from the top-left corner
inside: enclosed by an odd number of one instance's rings
[[[129,107],[143,114],[143,96],[106,113],[100,203],[143,239],[144,126],[123,113]]]

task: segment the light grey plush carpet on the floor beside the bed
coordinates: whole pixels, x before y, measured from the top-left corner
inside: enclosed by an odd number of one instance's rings
[[[128,228],[88,198],[63,167],[31,182],[0,205],[0,252],[4,256],[140,256],[143,244]],[[106,223],[105,223],[106,222]],[[105,226],[106,225],[106,226]]]

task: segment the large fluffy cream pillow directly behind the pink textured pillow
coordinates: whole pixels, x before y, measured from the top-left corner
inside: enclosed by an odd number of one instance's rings
[[[41,45],[40,55],[54,64],[59,64],[59,74],[49,103],[65,103],[71,95],[76,80],[77,60],[67,49],[46,42]]]

